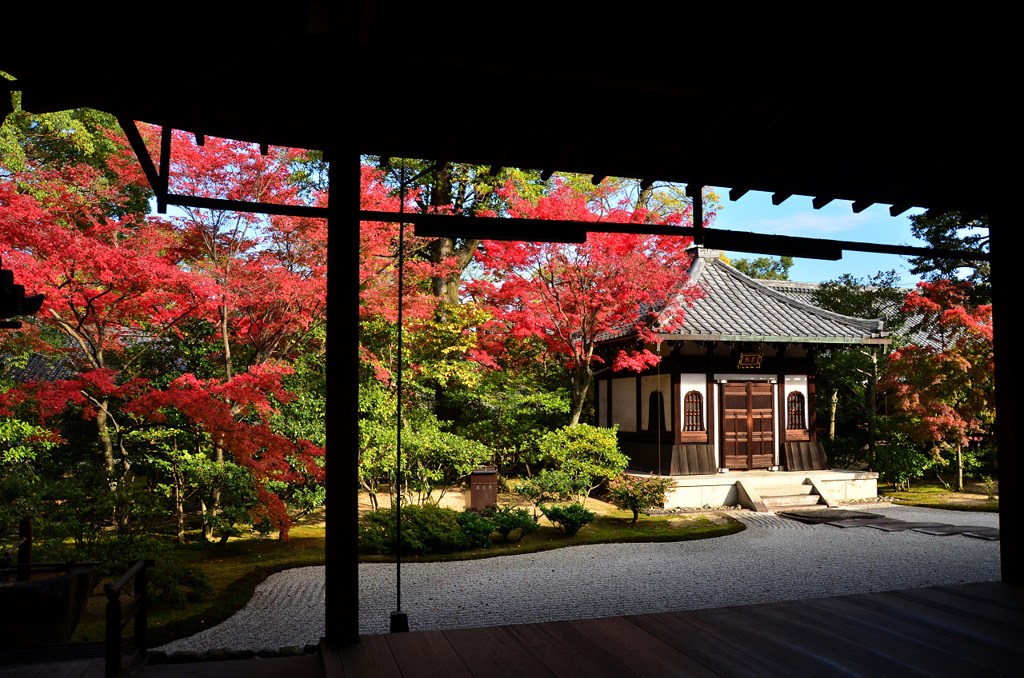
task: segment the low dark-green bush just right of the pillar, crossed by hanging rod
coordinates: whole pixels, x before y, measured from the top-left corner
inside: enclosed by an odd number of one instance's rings
[[[394,553],[395,509],[371,511],[366,523],[359,525],[362,548],[377,553]],[[401,509],[401,552],[447,553],[469,546],[469,540],[459,523],[459,512],[432,504],[403,506]]]

